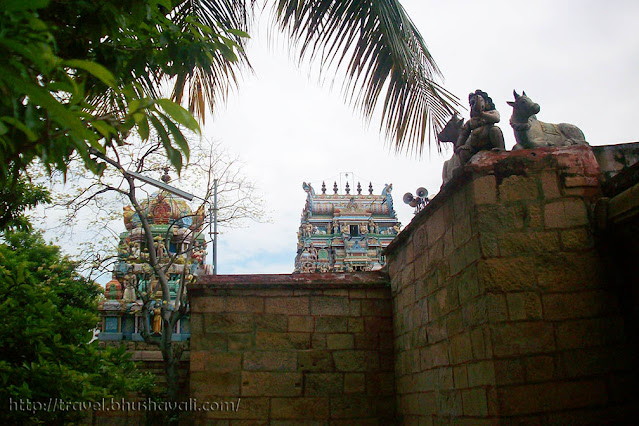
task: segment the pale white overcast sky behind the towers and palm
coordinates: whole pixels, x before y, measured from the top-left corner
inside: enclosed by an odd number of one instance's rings
[[[575,124],[591,145],[639,140],[639,1],[402,4],[442,70],[444,86],[464,105],[475,89],[492,97],[508,149],[514,137],[506,101],[513,89],[540,104],[540,120]],[[267,21],[265,13],[261,22]],[[207,137],[239,154],[271,217],[221,230],[220,274],[292,272],[303,181],[319,191],[326,180],[331,191],[340,172],[352,172],[364,188],[372,181],[376,194],[393,183],[395,210],[406,225],[413,209],[402,195],[419,186],[437,193],[442,164],[451,155],[438,154],[434,145],[421,157],[395,154],[379,121],[367,125],[345,105],[339,82],[333,90],[317,84],[316,72],[290,59],[283,37],[269,43],[264,28],[256,28],[248,46],[254,74],[245,73],[239,90],[204,127]],[[467,111],[462,115],[468,118]],[[180,182],[188,191],[185,186]]]

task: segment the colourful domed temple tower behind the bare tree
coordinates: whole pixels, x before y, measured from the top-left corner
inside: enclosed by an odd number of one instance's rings
[[[168,181],[168,175],[163,177]],[[159,315],[162,301],[158,279],[145,258],[149,250],[154,250],[160,266],[166,270],[171,303],[175,301],[182,272],[191,275],[210,274],[210,265],[206,265],[204,235],[201,232],[204,222],[203,210],[193,212],[186,202],[176,196],[159,191],[140,204],[148,218],[153,235],[153,247],[147,247],[140,217],[130,207],[124,207],[124,225],[126,231],[120,234],[118,259],[114,266],[113,278],[106,284],[105,299],[99,305],[101,332],[99,340],[142,341],[143,329],[141,296],[150,295],[148,304],[149,329],[160,333],[155,325],[154,316]],[[190,257],[187,256],[193,244]],[[172,263],[171,263],[172,261]],[[169,266],[170,264],[170,266]],[[158,318],[159,319],[159,318]],[[173,340],[186,340],[190,337],[188,316],[182,318],[174,330]]]

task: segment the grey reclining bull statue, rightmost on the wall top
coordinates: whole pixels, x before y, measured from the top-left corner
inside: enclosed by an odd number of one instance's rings
[[[543,146],[588,145],[583,132],[573,124],[550,124],[537,120],[539,104],[533,102],[526,92],[518,95],[513,90],[514,102],[506,102],[513,107],[510,125],[515,132],[515,149],[530,149]]]

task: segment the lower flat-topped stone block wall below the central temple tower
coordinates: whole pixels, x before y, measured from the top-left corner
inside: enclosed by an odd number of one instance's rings
[[[207,276],[189,297],[191,397],[240,400],[196,420],[394,421],[385,274]]]

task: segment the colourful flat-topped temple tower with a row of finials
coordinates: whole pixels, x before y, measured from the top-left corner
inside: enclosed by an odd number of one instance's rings
[[[303,183],[307,193],[306,206],[297,233],[295,272],[352,272],[381,269],[385,265],[383,249],[399,233],[401,224],[393,210],[391,190],[386,185],[381,195],[351,194],[346,183],[344,194],[338,194],[337,182],[333,194],[326,193],[322,182],[317,194],[310,183]]]

